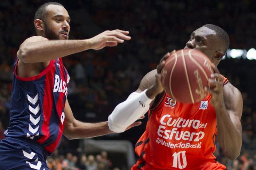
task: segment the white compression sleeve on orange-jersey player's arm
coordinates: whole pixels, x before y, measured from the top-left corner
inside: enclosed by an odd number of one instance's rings
[[[128,126],[149,110],[149,104],[154,99],[147,97],[146,90],[141,93],[131,93],[124,102],[116,106],[108,118],[108,125],[111,131],[116,133],[124,132]]]

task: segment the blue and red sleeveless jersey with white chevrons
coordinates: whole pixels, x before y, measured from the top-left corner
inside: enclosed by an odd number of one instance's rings
[[[10,124],[4,135],[29,138],[50,155],[59,146],[65,123],[69,75],[61,58],[51,60],[39,75],[17,75],[16,59],[12,83]]]

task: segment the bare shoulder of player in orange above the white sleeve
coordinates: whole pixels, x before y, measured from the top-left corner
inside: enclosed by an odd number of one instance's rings
[[[149,88],[150,86],[152,86],[156,80],[156,73],[157,70],[152,70],[149,71],[140,81],[140,86],[138,87],[138,89],[136,90],[136,92],[142,92],[145,89]]]

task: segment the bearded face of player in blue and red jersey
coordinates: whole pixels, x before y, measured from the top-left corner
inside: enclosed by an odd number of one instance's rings
[[[66,40],[69,38],[70,17],[67,10],[59,5],[48,5],[44,21],[44,33],[48,39]]]

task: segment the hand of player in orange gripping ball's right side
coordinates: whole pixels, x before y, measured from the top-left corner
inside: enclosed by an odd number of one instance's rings
[[[211,104],[214,107],[224,103],[223,99],[223,76],[215,65],[212,65],[214,73],[208,79],[210,87],[204,89],[211,93]]]

